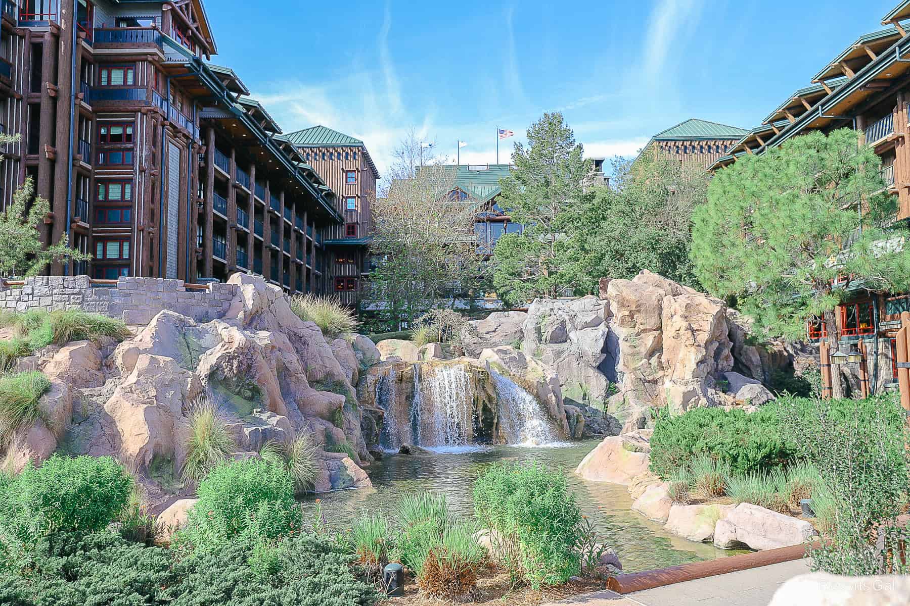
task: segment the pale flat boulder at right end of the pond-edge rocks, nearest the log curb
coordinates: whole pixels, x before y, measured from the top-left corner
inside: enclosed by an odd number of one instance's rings
[[[799,545],[815,535],[812,524],[772,512],[752,503],[740,503],[717,522],[714,546],[734,549],[746,545],[753,550]]]

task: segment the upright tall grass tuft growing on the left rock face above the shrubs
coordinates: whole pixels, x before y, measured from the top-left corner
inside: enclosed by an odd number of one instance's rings
[[[189,441],[187,460],[180,476],[189,486],[197,486],[208,472],[227,461],[237,450],[237,442],[227,429],[224,415],[217,402],[205,397],[195,402],[189,412]]]

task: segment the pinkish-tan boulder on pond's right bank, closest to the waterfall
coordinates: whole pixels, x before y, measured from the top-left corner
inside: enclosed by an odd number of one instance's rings
[[[648,471],[651,446],[646,434],[632,432],[605,438],[581,460],[575,472],[591,482],[629,484]]]

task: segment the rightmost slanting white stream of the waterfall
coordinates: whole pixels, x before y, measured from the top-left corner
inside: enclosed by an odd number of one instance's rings
[[[559,432],[541,402],[511,379],[495,371],[492,375],[499,401],[500,428],[507,443],[538,446],[559,439]]]

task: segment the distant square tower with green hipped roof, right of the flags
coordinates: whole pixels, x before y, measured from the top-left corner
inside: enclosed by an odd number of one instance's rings
[[[736,126],[691,118],[652,136],[638,158],[646,152],[656,151],[676,158],[682,164],[708,167],[726,155],[746,133],[748,131]]]

